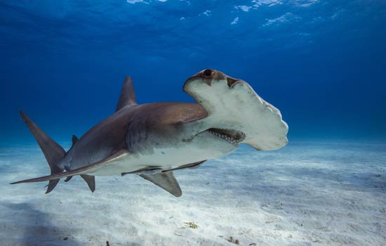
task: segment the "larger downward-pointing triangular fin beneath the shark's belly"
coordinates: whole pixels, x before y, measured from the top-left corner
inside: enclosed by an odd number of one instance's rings
[[[180,197],[182,195],[182,190],[180,188],[180,185],[178,184],[177,179],[175,179],[173,175],[173,171],[163,173],[159,172],[157,174],[152,175],[140,174],[140,176],[143,179],[154,183],[156,186],[163,188],[175,197]]]

